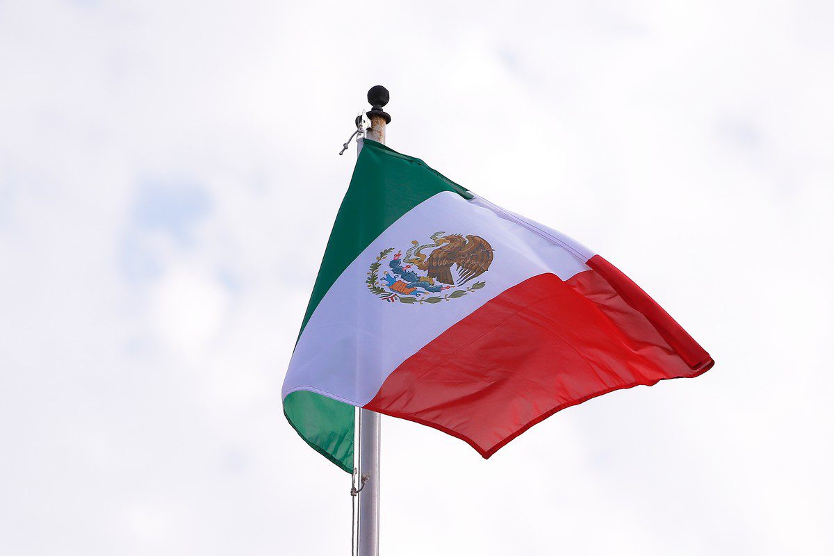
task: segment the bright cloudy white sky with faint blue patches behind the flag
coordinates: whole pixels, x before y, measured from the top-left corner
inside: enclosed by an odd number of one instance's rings
[[[384,554],[834,552],[826,2],[0,0],[0,553],[347,554],[280,385],[388,144],[585,243],[716,359],[485,461],[383,420]]]

